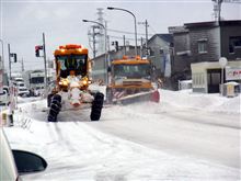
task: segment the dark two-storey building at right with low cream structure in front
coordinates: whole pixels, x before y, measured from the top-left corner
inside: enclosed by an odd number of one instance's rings
[[[238,72],[241,70],[240,20],[186,23],[183,26],[169,27],[169,32],[173,34],[174,44],[174,88],[179,80],[193,79],[195,92],[219,92],[220,57],[228,59],[229,69],[236,69]],[[226,81],[228,80],[223,76],[223,82]]]

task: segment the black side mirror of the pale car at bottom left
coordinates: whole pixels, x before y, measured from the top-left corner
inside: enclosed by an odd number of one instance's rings
[[[23,151],[12,150],[19,173],[44,171],[47,168],[47,162],[41,156]]]

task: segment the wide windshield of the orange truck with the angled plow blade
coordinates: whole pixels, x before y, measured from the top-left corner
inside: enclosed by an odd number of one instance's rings
[[[145,78],[150,79],[150,65],[139,64],[139,65],[115,65],[114,75],[115,79],[118,78]]]

